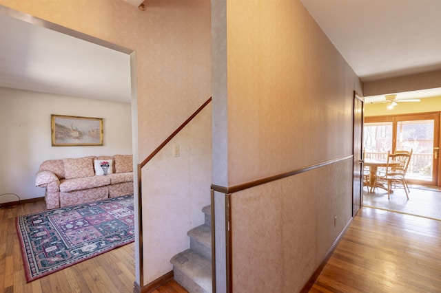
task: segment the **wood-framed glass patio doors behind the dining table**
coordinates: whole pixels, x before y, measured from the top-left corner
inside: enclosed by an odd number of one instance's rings
[[[439,186],[440,113],[418,113],[365,118],[366,158],[384,160],[387,152],[413,150],[407,181]]]

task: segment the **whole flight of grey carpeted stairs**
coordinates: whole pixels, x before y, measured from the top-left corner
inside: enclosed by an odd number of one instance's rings
[[[202,209],[205,223],[187,232],[190,249],[176,254],[170,262],[174,279],[190,293],[212,292],[212,215],[211,207]]]

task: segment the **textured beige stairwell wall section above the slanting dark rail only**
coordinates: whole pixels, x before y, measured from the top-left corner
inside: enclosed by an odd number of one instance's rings
[[[140,160],[211,95],[209,1],[147,7],[137,28]]]

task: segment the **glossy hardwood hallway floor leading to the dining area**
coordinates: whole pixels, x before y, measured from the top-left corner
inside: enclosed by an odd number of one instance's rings
[[[309,292],[441,292],[441,221],[362,208]]]

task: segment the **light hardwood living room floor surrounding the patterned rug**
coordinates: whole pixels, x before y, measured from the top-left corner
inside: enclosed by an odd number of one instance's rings
[[[26,283],[15,218],[42,210],[42,201],[0,209],[0,292],[133,292],[134,243]]]

